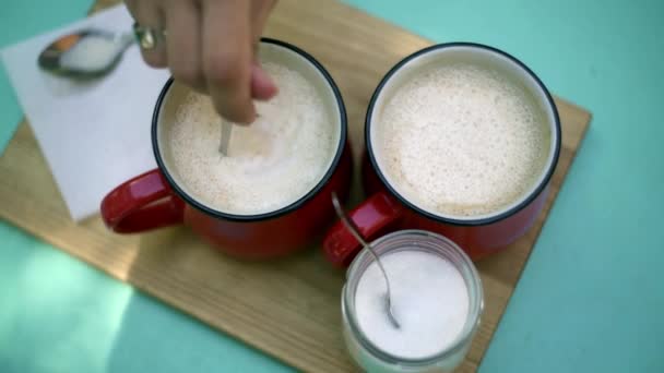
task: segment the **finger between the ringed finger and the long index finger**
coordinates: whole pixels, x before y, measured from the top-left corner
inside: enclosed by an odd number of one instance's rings
[[[197,91],[204,91],[200,12],[200,8],[193,1],[167,2],[166,47],[173,76]]]

